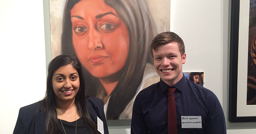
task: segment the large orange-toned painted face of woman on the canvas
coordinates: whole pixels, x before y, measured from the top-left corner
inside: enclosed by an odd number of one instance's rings
[[[122,69],[129,32],[115,9],[104,0],[82,0],[70,12],[73,45],[82,65],[98,78]]]

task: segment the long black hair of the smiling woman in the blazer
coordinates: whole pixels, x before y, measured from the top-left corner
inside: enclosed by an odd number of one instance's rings
[[[46,113],[46,134],[59,134],[61,131],[58,129],[58,119],[56,112],[55,93],[53,92],[52,77],[54,72],[61,66],[67,66],[71,64],[76,69],[79,75],[80,87],[78,93],[75,96],[75,105],[77,107],[78,114],[91,132],[96,134],[96,123],[91,119],[88,107],[85,102],[85,83],[82,73],[82,66],[79,60],[74,55],[59,55],[55,57],[48,66],[48,75],[46,81],[46,95],[42,101],[42,107]]]

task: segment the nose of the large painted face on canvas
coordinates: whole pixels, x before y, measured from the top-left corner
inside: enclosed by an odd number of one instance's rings
[[[87,48],[92,51],[104,48],[101,42],[101,36],[95,30],[89,31]]]

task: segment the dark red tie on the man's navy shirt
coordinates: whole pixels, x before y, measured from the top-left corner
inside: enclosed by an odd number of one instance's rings
[[[174,92],[176,88],[168,88],[168,134],[178,134],[177,115]]]

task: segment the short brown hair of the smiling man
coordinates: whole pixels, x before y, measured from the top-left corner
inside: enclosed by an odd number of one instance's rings
[[[153,57],[153,51],[157,51],[159,45],[165,45],[171,42],[177,42],[181,56],[185,53],[185,45],[183,40],[174,32],[159,33],[154,37],[151,43],[151,55]],[[154,57],[153,57],[154,58]]]

